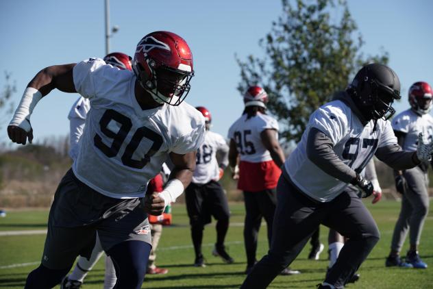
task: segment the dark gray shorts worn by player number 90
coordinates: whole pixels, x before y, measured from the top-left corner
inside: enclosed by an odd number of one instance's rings
[[[42,264],[51,269],[73,265],[77,255],[89,258],[99,235],[104,251],[139,240],[151,244],[147,214],[139,199],[114,199],[92,190],[69,170],[55,192],[48,219]]]

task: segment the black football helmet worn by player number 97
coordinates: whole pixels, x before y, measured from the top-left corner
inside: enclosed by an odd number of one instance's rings
[[[367,64],[354,77],[347,88],[366,121],[387,120],[395,114],[395,99],[401,99],[397,74],[383,64]]]

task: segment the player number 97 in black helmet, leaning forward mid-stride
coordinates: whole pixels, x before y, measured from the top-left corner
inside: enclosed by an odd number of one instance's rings
[[[378,226],[360,197],[375,199],[371,181],[360,175],[369,160],[397,170],[431,159],[433,143],[419,136],[417,150],[405,152],[386,121],[400,99],[397,74],[382,64],[367,64],[336,100],[312,113],[306,131],[284,163],[277,186],[271,249],[241,288],[266,288],[304,248],[317,225],[348,240],[319,288],[343,288],[380,238]],[[360,195],[347,185],[360,188]]]

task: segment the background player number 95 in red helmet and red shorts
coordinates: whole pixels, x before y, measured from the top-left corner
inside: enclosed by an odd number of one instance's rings
[[[284,163],[284,153],[278,142],[278,123],[266,114],[267,92],[260,86],[251,86],[243,95],[245,110],[230,127],[229,160],[236,170],[238,156],[238,189],[245,200],[244,242],[249,273],[256,263],[257,237],[262,217],[267,223],[268,241],[271,244],[273,215],[277,202],[277,180]],[[283,274],[299,273],[282,268]]]

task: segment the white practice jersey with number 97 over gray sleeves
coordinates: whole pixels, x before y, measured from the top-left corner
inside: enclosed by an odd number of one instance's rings
[[[376,129],[373,129],[373,121],[364,127],[343,101],[332,101],[321,106],[310,116],[301,142],[284,163],[297,188],[320,202],[331,201],[348,184],[328,175],[308,159],[306,145],[312,127],[326,134],[334,143],[338,158],[358,173],[367,166],[378,147],[397,144],[389,121],[379,119]]]

